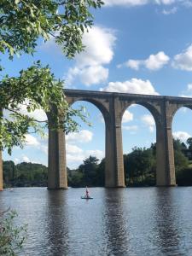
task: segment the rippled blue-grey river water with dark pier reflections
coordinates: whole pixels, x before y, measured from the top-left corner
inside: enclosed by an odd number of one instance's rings
[[[0,193],[28,224],[22,256],[192,255],[192,188],[21,188]]]

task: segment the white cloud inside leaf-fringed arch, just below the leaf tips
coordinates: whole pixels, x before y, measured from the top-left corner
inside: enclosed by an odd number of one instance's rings
[[[69,133],[66,136],[67,143],[89,143],[92,140],[93,133],[88,130]]]

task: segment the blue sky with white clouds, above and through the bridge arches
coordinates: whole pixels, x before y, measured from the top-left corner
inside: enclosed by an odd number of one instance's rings
[[[192,1],[188,0],[105,0],[106,6],[94,11],[95,26],[84,34],[85,51],[67,60],[53,39],[39,40],[37,52],[14,61],[2,58],[6,73],[41,60],[49,64],[66,88],[104,90],[166,96],[192,96]],[[67,166],[79,166],[90,154],[104,157],[105,126],[99,110],[87,107],[91,127],[82,124],[79,133],[67,137]],[[44,113],[37,111],[39,119]],[[192,112],[177,111],[173,136],[183,142],[192,137]],[[146,108],[131,106],[122,123],[124,153],[131,148],[148,147],[155,142],[154,119]],[[47,140],[26,136],[24,149],[14,148],[4,160],[32,161],[47,165]]]

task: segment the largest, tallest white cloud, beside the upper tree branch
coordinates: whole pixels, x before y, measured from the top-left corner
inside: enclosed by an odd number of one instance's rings
[[[103,65],[113,60],[113,46],[116,37],[113,30],[93,26],[83,36],[85,49],[76,55],[76,64],[69,68],[66,75],[66,84],[70,86],[75,79],[87,86],[101,84],[108,79],[108,68]]]

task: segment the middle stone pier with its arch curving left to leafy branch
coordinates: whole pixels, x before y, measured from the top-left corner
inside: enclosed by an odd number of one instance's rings
[[[116,130],[120,127],[115,125],[113,99],[86,96],[67,97],[70,105],[77,101],[90,102],[95,105],[101,111],[105,122],[105,187],[124,187],[125,178],[122,175],[124,172],[121,172],[123,156],[121,157],[122,150],[117,143],[117,139],[120,141],[121,137],[116,137]]]

